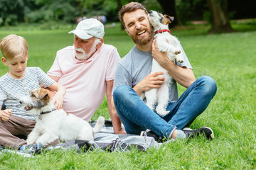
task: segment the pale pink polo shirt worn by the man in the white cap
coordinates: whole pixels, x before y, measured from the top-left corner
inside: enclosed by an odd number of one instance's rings
[[[112,45],[103,44],[87,61],[77,60],[73,46],[57,52],[48,75],[60,77],[65,86],[64,110],[89,121],[106,93],[106,81],[114,79],[120,56]]]

